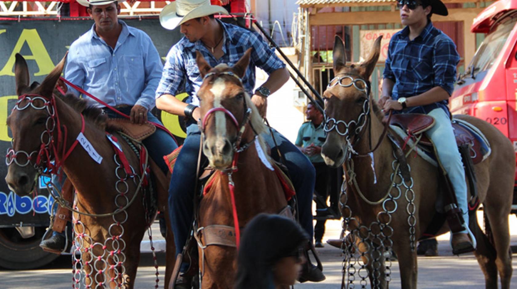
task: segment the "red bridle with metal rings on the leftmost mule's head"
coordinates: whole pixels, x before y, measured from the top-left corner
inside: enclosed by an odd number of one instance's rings
[[[21,106],[21,103],[27,100],[27,103]],[[35,105],[35,101],[42,101],[43,104],[41,106]],[[78,144],[78,140],[72,143],[68,151],[66,151],[66,140],[67,140],[67,127],[60,125],[59,117],[57,114],[57,109],[55,107],[56,100],[55,95],[53,94],[51,98],[44,97],[40,94],[22,94],[18,98],[16,105],[12,108],[11,111],[16,110],[25,110],[29,107],[32,107],[36,110],[46,109],[49,116],[45,121],[45,130],[41,132],[40,135],[40,147],[39,150],[34,150],[32,152],[26,152],[23,150],[14,151],[12,147],[13,141],[11,140],[11,148],[7,149],[6,153],[6,165],[9,166],[12,163],[17,164],[20,167],[26,167],[29,164],[33,164],[34,168],[39,173],[56,173],[57,169],[65,162],[65,159],[70,155],[75,146]],[[81,132],[84,133],[84,117],[81,114]],[[57,141],[54,140],[54,131],[57,131]],[[62,147],[62,153],[59,154],[58,147]],[[18,159],[19,156],[26,157],[25,162],[22,162]],[[51,162],[52,157],[54,157],[54,163]]]

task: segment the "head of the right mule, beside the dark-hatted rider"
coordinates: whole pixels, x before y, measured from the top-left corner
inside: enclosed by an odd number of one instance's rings
[[[370,117],[370,75],[381,50],[382,36],[375,40],[373,51],[360,65],[346,65],[343,40],[336,36],[333,48],[334,77],[323,93],[327,140],[322,156],[328,166],[337,168],[351,153],[353,144]]]

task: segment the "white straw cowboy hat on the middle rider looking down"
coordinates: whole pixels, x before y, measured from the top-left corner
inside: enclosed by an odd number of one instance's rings
[[[228,15],[221,6],[210,5],[210,0],[176,0],[163,7],[160,23],[163,28],[172,30],[191,19],[218,13]]]

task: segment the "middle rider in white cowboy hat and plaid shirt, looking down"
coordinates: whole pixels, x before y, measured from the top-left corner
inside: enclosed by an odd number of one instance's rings
[[[185,35],[169,52],[165,61],[160,85],[156,91],[156,105],[168,113],[185,116],[187,120],[187,137],[183,149],[174,166],[169,188],[169,206],[172,228],[176,243],[176,253],[183,249],[190,232],[193,217],[193,196],[197,155],[200,150],[201,133],[196,121],[200,118],[199,100],[195,97],[203,79],[195,61],[195,52],[199,51],[215,67],[220,63],[234,65],[251,47],[250,65],[242,78],[245,89],[253,95],[252,102],[262,115],[265,114],[266,100],[270,93],[277,91],[289,78],[285,64],[262,38],[247,29],[232,24],[222,23],[214,18],[214,14],[227,14],[220,6],[210,5],[209,0],[177,0],[163,8],[160,22],[166,29],[180,27]],[[255,67],[260,67],[269,74],[266,82],[253,92],[255,86]],[[183,87],[185,86],[185,90]],[[174,95],[186,91],[190,96],[187,103],[177,100]],[[285,156],[286,166],[293,178],[296,189],[300,224],[309,236],[313,235],[312,224],[312,189],[314,188],[314,168],[309,159],[303,155],[286,138],[276,133],[278,147]],[[275,143],[271,136],[264,136],[266,142],[275,152]],[[202,156],[204,160],[206,157]],[[279,156],[273,153],[273,158]],[[203,160],[202,160],[203,162]],[[322,281],[323,273],[314,265],[307,266],[302,276],[303,281]],[[180,272],[187,270],[182,265]],[[188,287],[190,278],[180,274],[179,285]]]

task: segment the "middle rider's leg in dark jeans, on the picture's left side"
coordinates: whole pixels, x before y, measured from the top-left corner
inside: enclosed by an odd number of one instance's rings
[[[200,150],[200,138],[201,133],[197,124],[189,125],[187,137],[176,159],[171,177],[169,214],[174,233],[174,243],[176,244],[176,255],[183,251],[192,226],[195,171],[197,155]],[[201,157],[206,159],[204,154],[201,154]],[[202,163],[205,163],[205,161],[202,160]],[[188,264],[183,265],[180,271],[186,270],[187,266]]]

